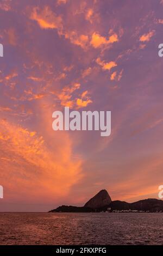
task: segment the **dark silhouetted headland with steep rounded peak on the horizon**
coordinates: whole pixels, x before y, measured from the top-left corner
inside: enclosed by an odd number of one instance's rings
[[[163,212],[163,200],[148,198],[134,203],[111,201],[106,190],[99,191],[84,206],[62,205],[49,212]]]

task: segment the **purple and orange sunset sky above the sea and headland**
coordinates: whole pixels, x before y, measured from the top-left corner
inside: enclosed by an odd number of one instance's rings
[[[158,198],[162,0],[1,0],[0,211]],[[52,113],[111,111],[111,135],[54,131]]]

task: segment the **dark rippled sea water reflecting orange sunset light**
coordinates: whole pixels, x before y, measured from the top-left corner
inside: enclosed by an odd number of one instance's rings
[[[163,213],[0,213],[0,245],[162,245]]]

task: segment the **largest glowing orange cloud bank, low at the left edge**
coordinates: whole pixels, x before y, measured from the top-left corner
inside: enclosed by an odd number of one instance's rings
[[[61,136],[52,131],[53,148],[49,149],[49,141],[45,143],[34,131],[4,120],[0,127],[1,182],[10,197],[49,202],[54,196],[65,196],[80,178],[81,161],[73,159],[71,141],[64,131]]]

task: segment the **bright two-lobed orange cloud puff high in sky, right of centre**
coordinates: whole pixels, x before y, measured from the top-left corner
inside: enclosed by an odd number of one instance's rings
[[[114,42],[117,42],[117,41],[118,41],[117,34],[111,35],[109,37],[109,39],[107,40],[104,36],[101,36],[98,33],[94,32],[92,34],[92,39],[91,39],[90,44],[94,48],[98,48],[98,47],[101,47],[102,45],[113,44]]]

